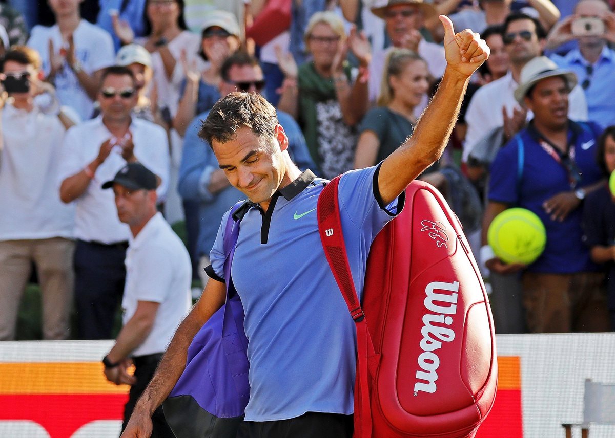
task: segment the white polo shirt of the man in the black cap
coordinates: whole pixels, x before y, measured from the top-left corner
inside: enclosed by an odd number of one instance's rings
[[[188,251],[161,213],[149,219],[126,251],[126,283],[122,298],[124,325],[139,301],[160,303],[154,326],[130,356],[162,353],[192,305],[192,267]]]

